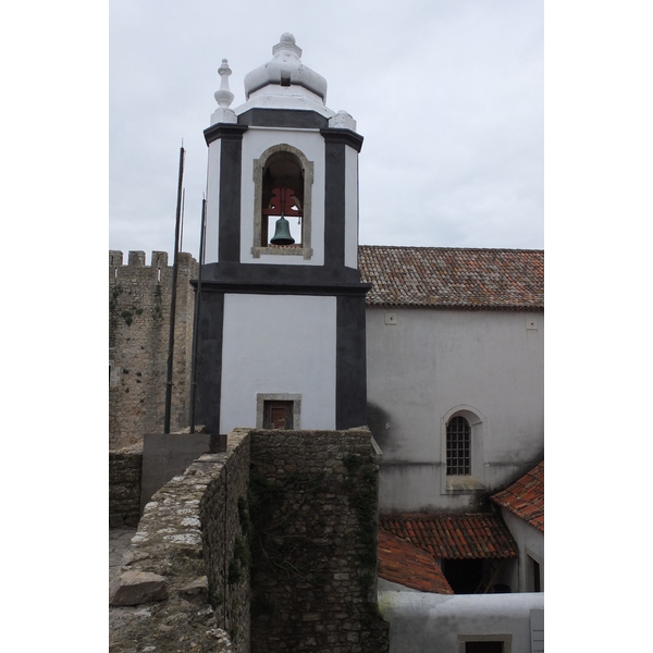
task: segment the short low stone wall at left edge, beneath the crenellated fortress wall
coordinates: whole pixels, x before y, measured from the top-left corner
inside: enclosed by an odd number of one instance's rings
[[[136,526],[140,517],[143,446],[109,452],[109,526]]]

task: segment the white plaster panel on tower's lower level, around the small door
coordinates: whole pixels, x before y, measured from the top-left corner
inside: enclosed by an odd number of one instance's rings
[[[335,429],[335,297],[224,297],[220,432],[256,427],[257,393],[301,395],[303,429]]]

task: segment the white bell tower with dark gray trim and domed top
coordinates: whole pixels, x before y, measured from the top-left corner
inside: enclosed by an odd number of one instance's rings
[[[196,415],[211,433],[366,423],[362,137],[326,107],[326,81],[292,34],[272,54],[245,76],[235,110],[222,61],[205,130]]]

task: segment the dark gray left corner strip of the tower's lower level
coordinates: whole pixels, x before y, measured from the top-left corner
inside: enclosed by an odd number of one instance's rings
[[[222,340],[224,332],[224,293],[201,287],[201,315],[197,346],[196,422],[206,424],[207,432],[220,432],[222,391]]]

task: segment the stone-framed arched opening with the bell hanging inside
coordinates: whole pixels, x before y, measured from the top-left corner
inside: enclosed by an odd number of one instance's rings
[[[251,254],[310,259],[313,164],[292,145],[268,148],[254,161],[254,243]],[[276,224],[285,237],[274,241]]]

